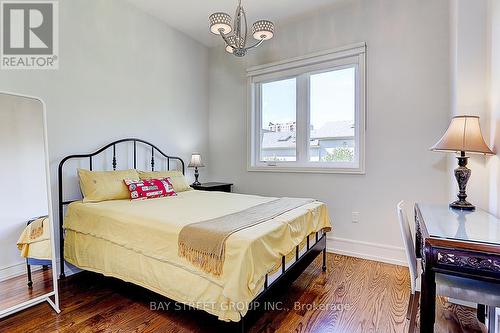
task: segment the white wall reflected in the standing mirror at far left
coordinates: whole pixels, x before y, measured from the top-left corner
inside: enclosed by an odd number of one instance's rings
[[[48,211],[43,107],[39,101],[0,94],[0,156],[2,280],[25,271],[17,240],[29,219]]]

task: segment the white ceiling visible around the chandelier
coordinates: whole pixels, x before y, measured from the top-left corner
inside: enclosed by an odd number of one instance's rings
[[[139,9],[158,17],[206,46],[220,44],[208,30],[208,16],[226,12],[234,16],[237,0],[128,0]],[[333,5],[340,0],[242,0],[249,27],[257,19],[279,23]]]

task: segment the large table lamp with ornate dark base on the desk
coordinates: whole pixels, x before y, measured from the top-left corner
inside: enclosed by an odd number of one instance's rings
[[[484,142],[479,117],[477,116],[456,116],[451,120],[450,126],[443,137],[431,147],[433,151],[445,151],[460,153],[457,156],[458,168],[455,169],[455,178],[458,182],[458,200],[450,204],[451,208],[462,210],[474,210],[476,207],[469,203],[465,188],[470,178],[471,171],[467,168],[469,156],[466,152],[493,155],[491,149]]]

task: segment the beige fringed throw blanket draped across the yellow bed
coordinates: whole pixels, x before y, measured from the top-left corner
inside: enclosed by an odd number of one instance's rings
[[[179,256],[203,271],[219,276],[224,265],[226,239],[230,235],[314,201],[280,198],[237,213],[189,224],[179,233]]]

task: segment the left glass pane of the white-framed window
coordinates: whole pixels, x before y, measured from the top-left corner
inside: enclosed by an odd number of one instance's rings
[[[263,83],[261,161],[296,160],[296,79]]]

